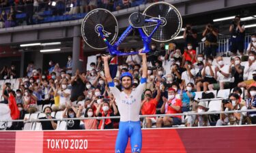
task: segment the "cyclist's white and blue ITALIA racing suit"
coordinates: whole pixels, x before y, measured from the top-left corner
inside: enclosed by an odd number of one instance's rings
[[[132,152],[141,152],[142,133],[139,112],[141,110],[141,95],[145,88],[147,78],[141,78],[141,83],[128,96],[115,87],[114,82],[109,83],[109,88],[115,97],[120,113],[119,131],[115,143],[115,152],[124,153],[128,139]]]

